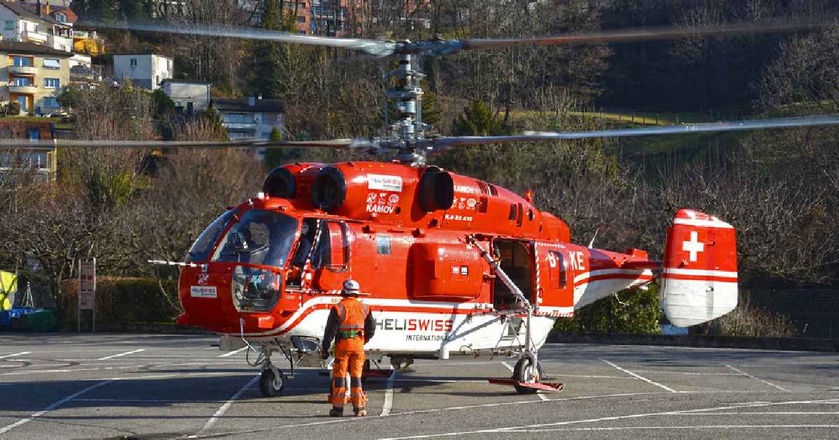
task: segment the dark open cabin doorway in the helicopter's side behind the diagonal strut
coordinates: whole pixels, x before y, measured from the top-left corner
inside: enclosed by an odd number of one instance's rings
[[[534,259],[533,245],[528,241],[509,239],[495,239],[492,241],[492,252],[500,260],[503,270],[516,287],[524,293],[524,297],[533,301]],[[495,277],[492,283],[492,306],[496,310],[509,310],[524,307],[519,299],[510,291],[509,287]]]

